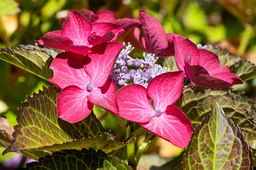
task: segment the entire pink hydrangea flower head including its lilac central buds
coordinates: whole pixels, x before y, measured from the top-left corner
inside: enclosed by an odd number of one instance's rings
[[[49,32],[36,41],[66,50],[53,59],[53,78],[60,88],[57,113],[68,122],[84,119],[99,105],[138,122],[144,129],[186,147],[193,128],[191,121],[174,104],[183,90],[184,77],[201,87],[230,87],[242,80],[220,66],[216,54],[175,33],[166,33],[156,18],[139,11],[139,19],[116,19],[112,11],[94,14],[72,11],[62,18],[61,31]],[[142,25],[143,35],[137,27]],[[133,28],[133,29],[131,29]],[[147,52],[143,59],[130,56],[134,47],[114,42],[129,31],[126,40]],[[124,48],[125,47],[125,48]],[[174,56],[180,71],[156,64],[159,57]]]

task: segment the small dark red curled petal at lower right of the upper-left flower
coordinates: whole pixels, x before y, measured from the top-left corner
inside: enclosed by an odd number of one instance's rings
[[[104,36],[92,34],[88,37],[88,42],[90,45],[95,46],[107,41],[111,41],[114,39],[114,37],[115,37],[115,34],[111,31],[106,33]]]

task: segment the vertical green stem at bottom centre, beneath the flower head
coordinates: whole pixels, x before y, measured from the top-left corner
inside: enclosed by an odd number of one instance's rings
[[[131,136],[131,131],[133,131],[133,122],[128,121],[127,122],[127,128],[126,128],[126,138],[129,138]],[[127,161],[128,165],[130,165],[134,170],[136,170],[136,163],[135,163],[135,142],[131,142],[127,147]]]

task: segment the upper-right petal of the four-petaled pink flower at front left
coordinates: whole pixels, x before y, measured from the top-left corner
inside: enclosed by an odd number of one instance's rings
[[[105,42],[92,47],[84,67],[94,87],[101,87],[108,81],[123,46],[121,42]]]

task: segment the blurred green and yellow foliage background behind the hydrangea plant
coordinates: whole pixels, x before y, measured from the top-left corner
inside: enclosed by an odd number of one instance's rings
[[[34,45],[34,40],[39,40],[47,32],[61,29],[57,22],[61,17],[81,8],[88,8],[94,13],[112,10],[117,19],[139,18],[138,11],[144,10],[162,23],[166,33],[188,36],[195,44],[211,43],[256,63],[255,0],[0,0],[0,48]],[[122,36],[118,40],[122,42],[124,38]],[[26,101],[26,95],[32,96],[32,92],[42,90],[42,85],[51,84],[0,60],[0,114],[8,118],[11,126],[16,125],[17,108],[22,107],[20,102]],[[255,102],[255,87],[256,79],[252,79],[234,88],[245,91],[245,95]],[[94,109],[106,130],[116,129],[117,124],[108,113],[101,108]],[[119,133],[115,131],[115,134],[118,136]],[[170,155],[161,148],[168,143],[157,140],[148,152],[173,156],[182,151],[177,150]],[[0,156],[0,161],[2,159],[4,157]]]

